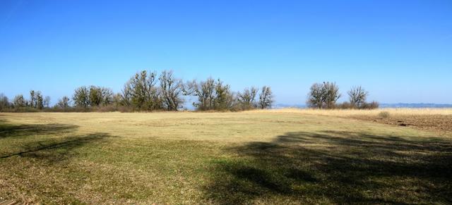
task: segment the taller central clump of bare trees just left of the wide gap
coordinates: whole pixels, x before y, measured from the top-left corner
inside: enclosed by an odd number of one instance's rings
[[[177,111],[184,106],[185,97],[196,97],[193,106],[199,111],[236,111],[252,108],[270,108],[273,94],[270,87],[263,87],[262,98],[256,102],[254,94],[243,101],[243,94],[231,91],[230,85],[209,77],[204,81],[183,82],[174,77],[172,71],[163,71],[157,77],[155,72],[141,71],[126,82],[118,104],[138,111]],[[245,89],[245,92],[251,92]],[[119,98],[118,98],[119,99]],[[261,106],[258,106],[261,105]]]

